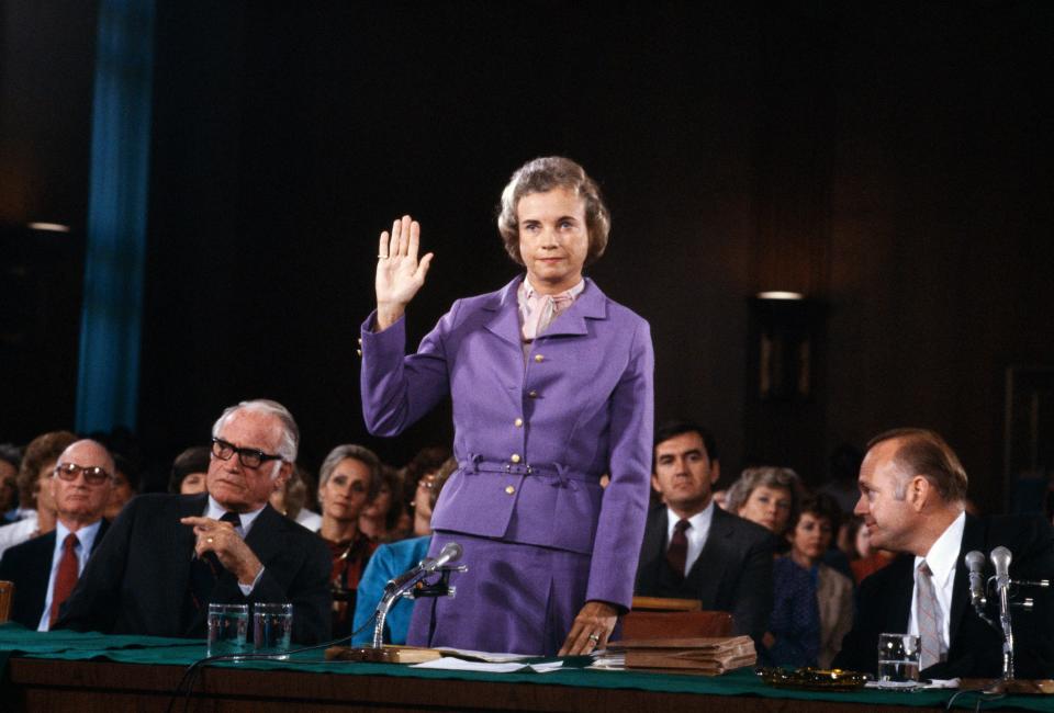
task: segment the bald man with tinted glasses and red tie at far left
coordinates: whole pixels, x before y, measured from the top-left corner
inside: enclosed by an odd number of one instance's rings
[[[113,489],[113,457],[96,441],[76,441],[41,487],[49,488],[56,527],[3,553],[0,579],[14,582],[11,620],[48,631],[89,555],[102,540],[102,511]]]

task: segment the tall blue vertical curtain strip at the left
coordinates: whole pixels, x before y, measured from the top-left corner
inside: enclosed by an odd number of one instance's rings
[[[76,428],[135,428],[154,0],[100,0]]]

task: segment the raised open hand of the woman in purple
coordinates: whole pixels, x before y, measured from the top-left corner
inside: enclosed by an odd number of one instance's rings
[[[381,233],[377,248],[377,328],[388,329],[406,312],[406,305],[425,284],[433,253],[417,260],[421,225],[408,215]]]

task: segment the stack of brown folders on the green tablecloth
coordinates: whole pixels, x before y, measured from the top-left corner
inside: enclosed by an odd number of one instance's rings
[[[612,642],[597,666],[614,668],[618,665],[619,656],[626,668],[703,676],[720,676],[733,668],[758,663],[758,653],[750,636]]]

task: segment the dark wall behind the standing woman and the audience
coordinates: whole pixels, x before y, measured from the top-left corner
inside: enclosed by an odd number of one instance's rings
[[[44,20],[3,7],[0,146],[26,158],[0,161],[0,219],[52,201],[76,247],[86,197],[54,157],[87,176],[90,73],[52,70],[79,109],[29,126]],[[64,23],[93,31],[88,11]],[[312,467],[339,442],[401,464],[449,439],[442,410],[397,440],[363,431],[377,235],[411,212],[436,252],[416,341],[516,274],[494,204],[523,161],[564,154],[613,210],[592,275],[651,322],[657,414],[710,425],[726,473],[815,482],[836,444],[920,425],[995,507],[1006,370],[1054,364],[1052,30],[1044,2],[161,1],[138,433],[164,462],[224,405],[270,396]],[[825,315],[808,398],[758,396],[765,288]],[[70,403],[4,391],[34,416],[9,411],[0,440],[69,426]]]

